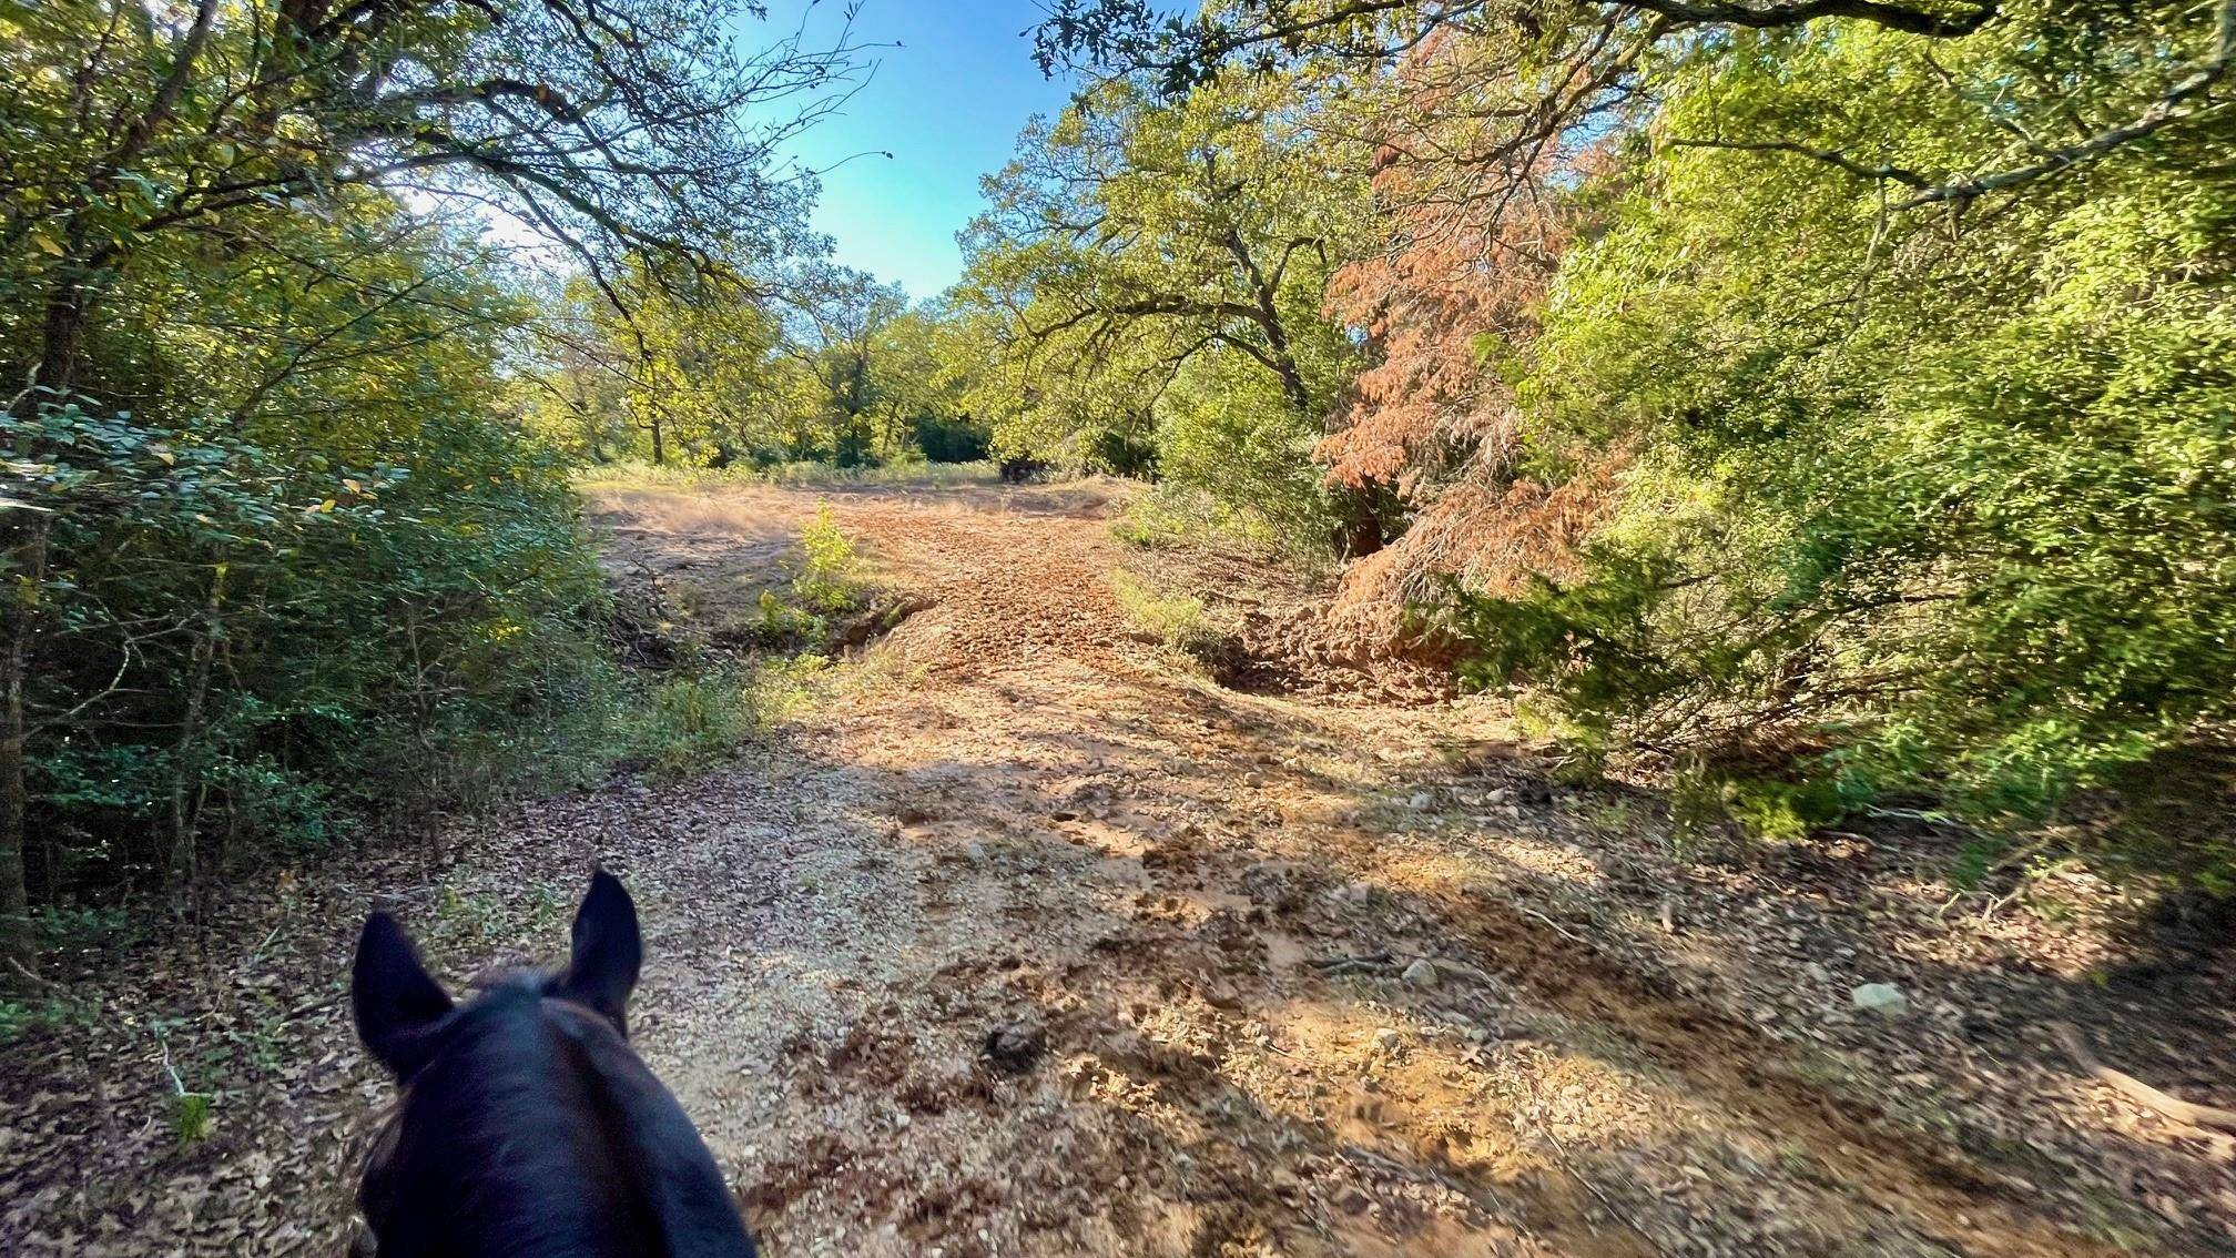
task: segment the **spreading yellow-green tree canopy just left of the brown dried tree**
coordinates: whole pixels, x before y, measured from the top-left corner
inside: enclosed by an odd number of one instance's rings
[[[1310,448],[1355,356],[1321,293],[1366,181],[1308,123],[1283,81],[1172,103],[1111,81],[1026,128],[964,237],[997,445],[1082,461],[1118,432],[1252,452],[1245,477],[1165,470],[1283,531],[1328,517]]]

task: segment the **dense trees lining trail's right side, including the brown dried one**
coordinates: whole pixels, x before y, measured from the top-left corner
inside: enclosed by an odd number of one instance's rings
[[[1234,510],[1389,542],[1362,638],[1688,806],[2227,886],[2236,4],[1071,0],[1038,40],[1098,85],[977,228],[997,432],[1174,475],[1212,434]]]

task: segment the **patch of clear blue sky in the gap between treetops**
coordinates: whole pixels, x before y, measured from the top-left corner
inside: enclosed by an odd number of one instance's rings
[[[805,0],[774,0],[769,22],[747,22],[747,40],[789,31]],[[839,27],[843,4],[807,13],[809,34]],[[1008,161],[1017,130],[1053,114],[1069,87],[1033,65],[1020,31],[1038,22],[1035,0],[863,0],[859,43],[892,45],[870,56],[877,74],[843,112],[807,132],[796,154],[827,168],[816,231],[847,266],[899,280],[910,298],[932,298],[961,273],[955,233],[979,208],[979,175]],[[881,157],[892,152],[892,159]]]

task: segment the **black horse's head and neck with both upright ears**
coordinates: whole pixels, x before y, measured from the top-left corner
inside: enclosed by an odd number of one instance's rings
[[[606,871],[566,969],[454,1005],[387,913],[358,938],[351,1005],[402,1104],[358,1202],[380,1258],[751,1258],[722,1173],[628,1048],[644,945]]]

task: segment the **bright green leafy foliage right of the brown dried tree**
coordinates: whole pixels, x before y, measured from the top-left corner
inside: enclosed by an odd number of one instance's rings
[[[1997,85],[2071,83],[2041,105],[2059,116],[2117,110],[2106,67],[2187,47],[2153,13],[2077,38],[2084,18],[2015,11],[1932,54],[1867,27],[1733,34],[1668,72],[1655,125],[1941,170],[2010,125],[1977,105]],[[2039,826],[2218,739],[2232,128],[1963,215],[1889,213],[1885,188],[1791,150],[1628,150],[1525,354],[1520,459],[1558,475],[1545,452],[1592,443],[1635,463],[1574,573],[1451,595],[1471,676],[1534,685],[1590,743],[1699,763],[1771,833],[1914,792]]]

